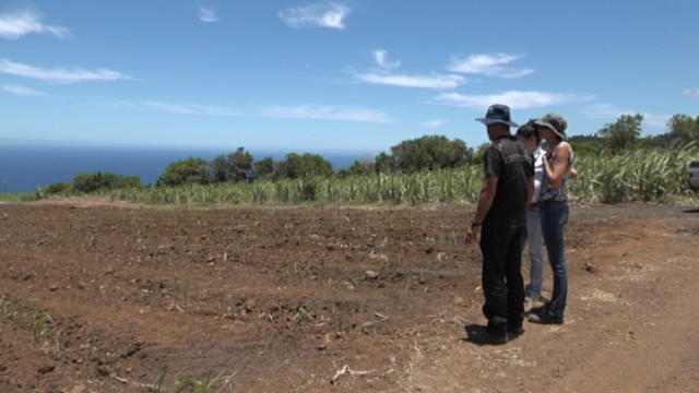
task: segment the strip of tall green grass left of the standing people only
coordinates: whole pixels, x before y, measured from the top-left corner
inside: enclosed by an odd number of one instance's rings
[[[237,184],[190,184],[105,191],[112,200],[139,203],[225,204],[427,204],[473,202],[482,170],[466,167],[418,174],[357,175],[346,178],[258,181]]]

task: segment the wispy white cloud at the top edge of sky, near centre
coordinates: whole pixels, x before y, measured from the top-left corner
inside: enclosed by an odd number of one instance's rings
[[[294,7],[280,11],[279,15],[293,28],[345,28],[344,20],[352,9],[335,2],[316,3],[306,7]]]

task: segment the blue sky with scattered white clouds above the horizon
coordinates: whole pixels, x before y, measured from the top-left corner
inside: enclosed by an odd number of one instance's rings
[[[489,104],[588,134],[699,115],[699,2],[0,3],[0,141],[387,150]]]

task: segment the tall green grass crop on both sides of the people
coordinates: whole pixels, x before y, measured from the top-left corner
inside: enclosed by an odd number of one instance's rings
[[[667,201],[686,194],[687,165],[699,146],[640,150],[579,157],[568,182],[573,200],[617,203]],[[417,174],[311,177],[254,183],[141,187],[103,191],[112,200],[149,204],[388,204],[473,203],[483,181],[479,166]]]

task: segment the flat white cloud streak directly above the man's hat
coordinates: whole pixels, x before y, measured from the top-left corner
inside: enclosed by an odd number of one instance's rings
[[[559,94],[546,92],[505,92],[488,95],[465,95],[459,93],[443,93],[433,99],[435,104],[455,106],[461,108],[486,108],[493,104],[505,104],[512,109],[544,108],[554,105],[589,100],[591,97],[574,94]]]

